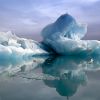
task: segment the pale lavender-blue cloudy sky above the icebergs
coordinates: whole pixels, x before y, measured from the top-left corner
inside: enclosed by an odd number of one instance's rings
[[[0,31],[41,40],[41,30],[65,13],[87,23],[84,39],[100,40],[100,0],[0,0]]]

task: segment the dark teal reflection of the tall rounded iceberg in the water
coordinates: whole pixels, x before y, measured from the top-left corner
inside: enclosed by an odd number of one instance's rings
[[[100,69],[99,58],[78,57],[52,57],[45,61],[42,66],[44,74],[59,77],[59,80],[43,80],[44,83],[55,88],[61,96],[73,96],[80,85],[87,83],[85,71]]]

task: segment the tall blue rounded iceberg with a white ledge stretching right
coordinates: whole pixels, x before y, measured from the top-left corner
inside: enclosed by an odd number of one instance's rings
[[[64,14],[42,30],[43,42],[60,55],[100,54],[100,41],[81,40],[87,32],[85,24]]]

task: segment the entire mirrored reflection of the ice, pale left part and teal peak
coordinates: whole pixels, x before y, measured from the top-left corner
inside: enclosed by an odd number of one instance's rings
[[[36,71],[41,69],[41,71]],[[81,57],[33,57],[30,61],[0,62],[0,77],[21,77],[26,80],[42,80],[45,85],[55,88],[61,96],[73,96],[80,85],[86,85],[86,71],[100,70],[100,58]]]

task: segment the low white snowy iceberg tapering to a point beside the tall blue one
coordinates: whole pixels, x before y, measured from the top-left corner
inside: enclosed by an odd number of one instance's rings
[[[0,32],[0,60],[23,60],[34,55],[47,55],[42,44],[19,38],[11,32]]]

